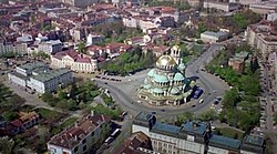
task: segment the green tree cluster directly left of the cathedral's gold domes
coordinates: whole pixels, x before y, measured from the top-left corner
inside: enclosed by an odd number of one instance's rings
[[[103,63],[100,68],[111,73],[126,75],[152,66],[155,59],[153,52],[148,51],[145,54],[140,47],[135,47],[132,51],[122,53],[116,60]]]

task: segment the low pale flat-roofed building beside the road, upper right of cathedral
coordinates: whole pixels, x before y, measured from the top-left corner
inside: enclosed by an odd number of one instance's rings
[[[205,43],[215,43],[220,42],[228,39],[227,32],[212,32],[212,31],[205,31],[201,33],[201,40]]]

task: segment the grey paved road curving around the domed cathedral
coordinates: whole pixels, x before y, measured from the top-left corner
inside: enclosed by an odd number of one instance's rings
[[[126,76],[122,80],[122,82],[113,82],[107,80],[99,80],[95,79],[95,82],[103,88],[110,90],[113,99],[122,106],[124,111],[131,112],[133,115],[136,115],[138,112],[156,112],[157,115],[168,117],[182,114],[186,111],[189,112],[201,112],[206,110],[212,104],[213,100],[222,95],[225,90],[228,89],[228,85],[222,81],[219,78],[213,76],[206,72],[202,72],[201,66],[204,65],[206,61],[212,60],[212,57],[215,54],[217,50],[219,50],[223,45],[220,44],[212,44],[209,49],[204,52],[198,59],[196,59],[192,64],[189,64],[186,69],[186,76],[198,76],[198,81],[196,82],[201,88],[204,89],[205,93],[202,96],[204,99],[204,103],[198,104],[197,101],[194,103],[196,106],[192,107],[192,101],[181,106],[151,106],[148,104],[137,103],[137,99],[135,95],[135,90],[140,88],[141,83],[146,76],[146,71],[138,72],[133,76]],[[198,70],[198,73],[196,72]],[[114,76],[112,76],[114,78]],[[135,81],[135,82],[133,82]],[[208,94],[211,93],[211,94]],[[165,112],[162,112],[161,109],[164,109]]]

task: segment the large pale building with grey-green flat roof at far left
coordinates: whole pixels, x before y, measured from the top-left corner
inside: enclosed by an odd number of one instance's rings
[[[51,70],[42,62],[27,63],[8,73],[9,81],[39,93],[52,92],[73,82],[68,69]]]

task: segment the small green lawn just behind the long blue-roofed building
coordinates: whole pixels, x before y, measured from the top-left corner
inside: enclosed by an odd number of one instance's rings
[[[238,138],[238,140],[243,140],[243,137],[244,137],[243,132],[236,131],[236,130],[230,129],[230,127],[217,127],[215,133],[222,134],[224,136],[233,137],[233,138]]]

